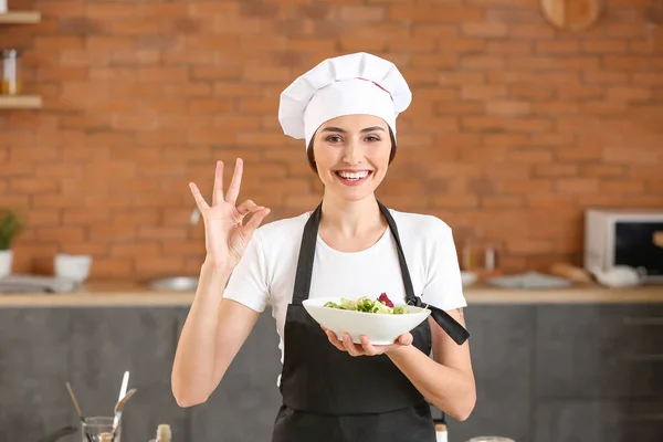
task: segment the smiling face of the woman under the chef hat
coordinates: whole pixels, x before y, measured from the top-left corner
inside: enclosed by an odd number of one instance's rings
[[[392,156],[392,138],[382,118],[346,115],[318,128],[313,149],[325,191],[359,201],[371,196],[385,179]]]

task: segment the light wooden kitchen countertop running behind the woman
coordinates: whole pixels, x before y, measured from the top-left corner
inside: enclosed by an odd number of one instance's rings
[[[663,285],[608,288],[592,284],[551,290],[509,290],[474,285],[465,287],[464,292],[469,305],[663,303]],[[0,294],[0,308],[188,306],[191,304],[193,296],[193,292],[161,292],[129,282],[91,282],[74,293]]]

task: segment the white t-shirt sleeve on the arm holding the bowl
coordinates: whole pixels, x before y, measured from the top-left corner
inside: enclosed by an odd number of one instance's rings
[[[439,220],[430,244],[432,249],[428,259],[427,283],[421,298],[443,311],[467,306],[463,294],[463,282],[456,246],[451,228]]]

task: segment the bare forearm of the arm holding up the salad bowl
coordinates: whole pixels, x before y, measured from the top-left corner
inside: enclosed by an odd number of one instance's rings
[[[433,406],[460,421],[467,419],[476,402],[473,377],[438,364],[411,345],[387,356]]]

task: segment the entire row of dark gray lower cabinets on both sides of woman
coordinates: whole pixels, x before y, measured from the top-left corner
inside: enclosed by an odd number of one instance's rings
[[[36,441],[87,414],[109,414],[125,370],[138,388],[124,442],[157,424],[175,441],[269,442],[281,402],[278,338],[267,309],[204,404],[181,409],[170,370],[187,307],[0,308],[0,440]],[[477,404],[448,418],[451,442],[663,440],[663,305],[471,305]],[[73,435],[64,442],[80,442]]]

